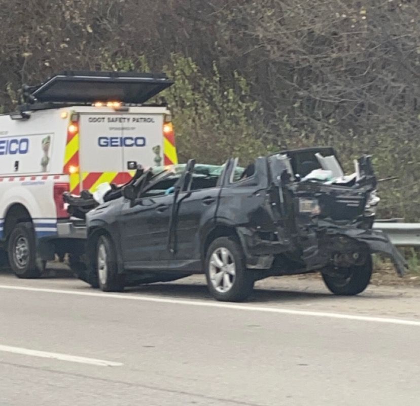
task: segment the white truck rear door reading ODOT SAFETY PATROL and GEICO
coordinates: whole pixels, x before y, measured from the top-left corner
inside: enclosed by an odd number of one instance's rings
[[[103,182],[125,183],[127,164],[163,165],[163,114],[83,113],[80,115],[82,189]]]

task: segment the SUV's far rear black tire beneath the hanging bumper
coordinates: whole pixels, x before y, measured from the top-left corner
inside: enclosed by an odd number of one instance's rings
[[[363,292],[369,285],[372,268],[372,257],[368,255],[363,265],[354,265],[342,269],[342,272],[338,270],[334,276],[323,273],[322,277],[327,288],[335,295],[354,296]]]

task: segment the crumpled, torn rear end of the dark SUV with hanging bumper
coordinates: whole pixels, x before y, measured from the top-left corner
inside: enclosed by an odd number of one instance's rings
[[[321,152],[311,152],[323,169],[343,176],[341,169],[337,169],[341,167],[334,155],[329,155],[326,160]],[[310,161],[307,151],[304,159]],[[294,151],[296,170],[297,163],[301,161],[299,151]],[[282,189],[283,201],[288,199],[289,203],[293,202],[293,210],[289,209],[289,214],[293,215],[296,228],[295,232],[293,227],[288,230],[306,270],[322,269],[332,261],[344,266],[346,258],[356,260],[357,257],[360,260],[368,252],[390,257],[397,272],[403,274],[406,266],[404,258],[386,235],[370,230],[379,201],[371,157],[360,158],[356,167],[358,173],[339,184],[313,179],[292,182],[290,177],[286,180],[285,165],[275,162],[273,157],[269,157],[269,164],[270,168],[275,167],[271,169],[273,182]],[[278,181],[282,177],[283,181]],[[296,273],[301,271],[296,269]]]

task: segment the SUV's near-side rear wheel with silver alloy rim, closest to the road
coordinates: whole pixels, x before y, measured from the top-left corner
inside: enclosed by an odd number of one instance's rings
[[[227,253],[224,250],[227,250]],[[226,261],[223,260],[223,253],[226,255]],[[222,267],[217,265],[214,256],[222,261],[219,264],[233,264],[233,271],[226,265]],[[231,270],[229,271],[229,269]],[[205,259],[205,275],[208,290],[217,300],[243,301],[250,296],[254,289],[254,275],[246,268],[242,248],[237,239],[233,237],[220,237],[210,244]],[[229,281],[225,284],[227,279]]]

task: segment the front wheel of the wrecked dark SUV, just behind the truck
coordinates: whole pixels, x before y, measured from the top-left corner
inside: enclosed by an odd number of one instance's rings
[[[103,292],[124,290],[123,275],[118,273],[117,256],[111,238],[101,235],[96,244],[96,272],[99,288]]]

